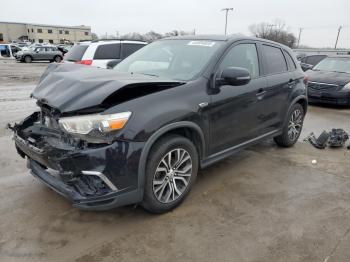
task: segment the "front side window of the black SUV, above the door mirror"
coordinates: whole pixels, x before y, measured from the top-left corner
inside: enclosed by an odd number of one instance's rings
[[[249,71],[251,78],[259,76],[259,60],[255,44],[239,44],[231,48],[221,62],[219,70],[227,67],[242,67]]]

